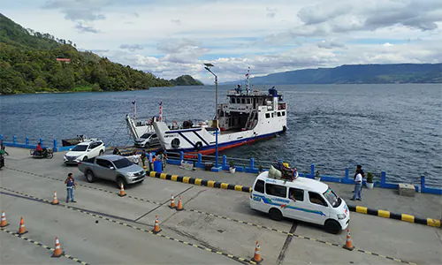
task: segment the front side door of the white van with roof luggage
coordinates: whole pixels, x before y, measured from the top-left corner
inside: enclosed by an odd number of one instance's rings
[[[315,192],[308,193],[305,203],[306,214],[310,223],[324,224],[330,214],[330,208],[324,197]]]

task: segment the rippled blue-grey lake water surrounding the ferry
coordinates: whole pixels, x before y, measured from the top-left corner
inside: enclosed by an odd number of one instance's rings
[[[218,87],[225,102],[230,86]],[[269,88],[269,87],[267,87]],[[296,85],[278,86],[288,105],[288,131],[278,138],[225,151],[233,157],[275,161],[277,157],[324,175],[344,175],[360,163],[388,181],[440,186],[442,176],[442,87],[434,85]],[[255,89],[263,87],[255,86]],[[215,88],[154,87],[146,91],[0,97],[0,133],[36,142],[86,134],[107,145],[130,145],[126,114],[157,115],[163,102],[167,120],[210,119]]]

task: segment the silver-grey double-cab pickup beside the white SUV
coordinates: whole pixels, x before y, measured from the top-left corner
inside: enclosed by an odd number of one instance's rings
[[[122,155],[102,155],[81,161],[79,170],[85,174],[88,182],[103,178],[116,182],[118,187],[122,183],[134,184],[146,178],[146,171],[141,166]]]

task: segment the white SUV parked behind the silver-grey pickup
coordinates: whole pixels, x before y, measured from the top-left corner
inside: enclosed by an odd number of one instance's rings
[[[77,164],[80,161],[103,155],[105,151],[106,147],[101,140],[83,141],[66,153],[65,164]]]

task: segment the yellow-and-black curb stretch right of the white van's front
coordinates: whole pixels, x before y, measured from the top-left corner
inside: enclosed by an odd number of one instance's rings
[[[354,206],[354,205],[348,205],[348,208],[352,212],[370,215],[370,216],[381,216],[385,218],[391,218],[395,220],[400,220],[408,223],[420,223],[428,226],[433,227],[440,227],[440,220],[438,219],[432,219],[432,218],[420,218],[416,216],[410,216],[406,214],[394,214],[390,211],[386,210],[380,210],[380,209],[373,209],[373,208],[366,208],[363,206]]]

